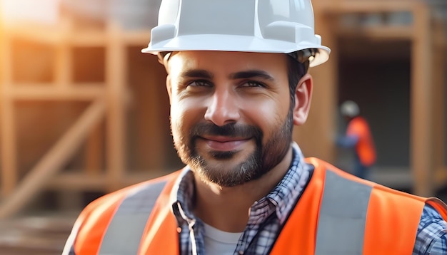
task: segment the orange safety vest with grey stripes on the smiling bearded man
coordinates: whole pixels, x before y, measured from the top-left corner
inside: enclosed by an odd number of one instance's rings
[[[270,254],[411,254],[426,203],[447,219],[439,199],[398,192],[316,158],[306,161],[315,170]],[[70,247],[76,255],[179,254],[179,228],[169,201],[178,175],[136,184],[89,204],[64,254]],[[154,185],[159,192],[150,190]],[[129,230],[132,225],[139,233]]]

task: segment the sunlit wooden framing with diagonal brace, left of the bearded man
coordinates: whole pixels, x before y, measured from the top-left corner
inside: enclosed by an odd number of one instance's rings
[[[126,48],[143,46],[150,31],[124,31],[110,22],[104,31],[75,31],[71,21],[56,27],[16,24],[2,28],[0,58],[1,76],[1,197],[0,218],[8,217],[46,187],[60,190],[102,189],[113,191],[142,179],[155,177],[125,175],[126,125],[125,108],[129,101],[126,88]],[[51,84],[17,84],[12,73],[11,42],[14,38],[56,46],[56,75]],[[104,83],[74,84],[71,76],[72,47],[101,46],[106,51]],[[16,100],[76,100],[89,102],[89,107],[23,179],[17,171]],[[106,121],[106,171],[101,173],[99,124]],[[74,152],[87,141],[86,169],[79,173],[58,173]],[[73,197],[71,198],[73,199]]]

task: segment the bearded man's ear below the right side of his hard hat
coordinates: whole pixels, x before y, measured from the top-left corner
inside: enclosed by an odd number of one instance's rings
[[[295,90],[295,107],[293,108],[293,125],[303,125],[311,109],[312,76],[306,73],[299,81]]]

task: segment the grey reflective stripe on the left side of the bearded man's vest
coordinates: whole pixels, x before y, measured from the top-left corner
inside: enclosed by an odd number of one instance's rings
[[[99,255],[137,254],[141,236],[165,182],[157,182],[129,194],[116,209]]]

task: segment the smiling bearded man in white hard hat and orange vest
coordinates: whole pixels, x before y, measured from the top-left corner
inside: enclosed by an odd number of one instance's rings
[[[443,202],[304,159],[292,141],[310,107],[307,68],[329,53],[310,1],[164,0],[144,52],[166,67],[186,167],[89,204],[64,254],[446,249]]]

